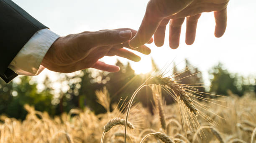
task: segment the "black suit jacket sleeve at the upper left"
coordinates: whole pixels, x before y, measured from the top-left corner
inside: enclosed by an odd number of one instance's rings
[[[10,82],[17,76],[9,64],[28,40],[47,28],[11,0],[0,0],[0,77]]]

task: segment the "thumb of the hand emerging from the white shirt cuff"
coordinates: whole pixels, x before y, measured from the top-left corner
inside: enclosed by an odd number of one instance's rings
[[[131,30],[117,31],[117,30],[107,30],[98,31],[93,35],[94,46],[107,46],[121,44],[128,41],[132,37]]]

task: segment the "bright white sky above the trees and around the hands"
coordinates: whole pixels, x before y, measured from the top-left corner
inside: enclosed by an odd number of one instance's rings
[[[53,32],[65,36],[83,31],[132,28],[138,30],[146,10],[148,0],[13,0],[38,21]],[[203,13],[197,25],[195,43],[185,44],[186,23],[182,27],[180,46],[169,48],[168,32],[164,46],[151,48],[150,55],[142,55],[140,62],[131,62],[136,73],[151,69],[151,57],[159,68],[173,59],[184,67],[187,58],[193,66],[202,71],[206,84],[209,84],[208,70],[218,62],[231,73],[243,76],[256,75],[256,1],[230,0],[228,5],[228,27],[221,38],[215,38],[215,20],[212,12]],[[122,62],[128,62],[118,58]],[[102,61],[115,64],[117,57],[106,57]],[[45,70],[44,74],[53,74]]]

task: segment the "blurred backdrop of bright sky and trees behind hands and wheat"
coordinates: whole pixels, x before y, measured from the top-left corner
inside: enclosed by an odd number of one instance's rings
[[[13,0],[29,14],[65,36],[83,31],[138,29],[148,0]],[[131,96],[136,88],[166,63],[169,68],[177,65],[172,73],[185,67],[189,71],[177,79],[189,76],[183,83],[201,83],[201,91],[228,95],[227,91],[242,96],[256,91],[256,4],[254,0],[231,0],[228,5],[228,27],[221,38],[214,37],[213,13],[203,13],[197,26],[197,36],[192,46],[185,44],[185,22],[182,27],[180,46],[170,49],[168,36],[163,47],[148,44],[152,52],[142,55],[140,62],[130,62],[119,57],[105,57],[102,61],[120,66],[120,72],[108,73],[86,69],[70,74],[51,72],[45,69],[38,76],[18,76],[10,84],[0,79],[0,114],[24,119],[24,104],[35,106],[38,111],[47,111],[50,116],[68,112],[71,108],[90,108],[95,113],[105,112],[96,101],[95,91],[107,87],[111,102]],[[169,28],[166,29],[168,35]],[[167,104],[172,103],[164,96]],[[128,97],[129,99],[129,97]],[[143,89],[137,101],[151,107],[151,91]]]

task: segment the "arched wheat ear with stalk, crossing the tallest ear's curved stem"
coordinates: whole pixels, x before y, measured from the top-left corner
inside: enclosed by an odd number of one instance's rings
[[[108,121],[108,123],[104,126],[104,131],[102,133],[102,137],[101,137],[101,143],[103,143],[103,138],[105,136],[105,133],[107,133],[111,128],[113,128],[113,126],[116,125],[125,125],[125,120],[121,119],[121,118],[113,118],[112,120]],[[132,123],[130,123],[129,121],[127,122],[127,125],[129,128],[133,129],[134,126]]]

